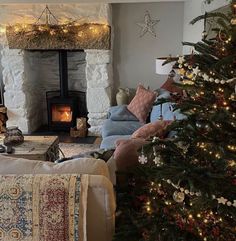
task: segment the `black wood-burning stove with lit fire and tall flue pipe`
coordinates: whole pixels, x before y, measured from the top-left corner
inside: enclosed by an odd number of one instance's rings
[[[48,127],[50,130],[68,131],[76,125],[77,117],[86,117],[86,94],[68,91],[67,50],[59,50],[60,91],[46,93]]]

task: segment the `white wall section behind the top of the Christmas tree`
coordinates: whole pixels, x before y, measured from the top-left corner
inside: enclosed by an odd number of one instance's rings
[[[202,32],[204,29],[203,21],[199,21],[194,25],[190,24],[190,21],[197,16],[204,14],[205,12],[213,11],[224,5],[227,5],[229,0],[215,0],[211,4],[204,4],[204,0],[186,0],[184,3],[184,34],[183,41],[198,42],[201,40]],[[189,53],[190,48],[184,47],[183,53]]]

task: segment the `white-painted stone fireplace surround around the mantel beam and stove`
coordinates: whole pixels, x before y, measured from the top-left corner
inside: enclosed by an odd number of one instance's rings
[[[45,5],[4,5],[0,23],[29,22],[39,16]],[[59,4],[50,9],[62,19],[83,19],[111,25],[109,4]],[[17,16],[15,19],[14,16]],[[31,21],[30,21],[31,20]],[[31,133],[47,123],[45,92],[59,89],[58,56],[54,51],[9,49],[5,34],[1,35],[1,65],[4,100],[8,109],[7,126],[16,125]],[[101,126],[111,105],[112,51],[84,50],[68,54],[69,89],[86,91],[89,135],[100,135]]]

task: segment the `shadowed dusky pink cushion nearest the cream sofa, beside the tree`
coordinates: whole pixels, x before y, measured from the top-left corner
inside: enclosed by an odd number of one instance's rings
[[[127,167],[138,164],[138,150],[148,142],[142,138],[118,140],[116,142],[116,150],[114,159],[116,160],[117,170],[124,171]]]

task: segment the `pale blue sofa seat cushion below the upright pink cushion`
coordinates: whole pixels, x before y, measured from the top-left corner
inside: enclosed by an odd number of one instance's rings
[[[113,135],[132,135],[141,126],[143,124],[138,121],[112,121],[108,119],[102,126],[102,138]]]

